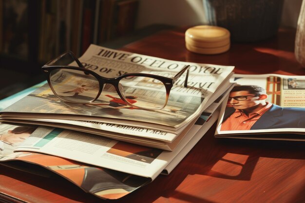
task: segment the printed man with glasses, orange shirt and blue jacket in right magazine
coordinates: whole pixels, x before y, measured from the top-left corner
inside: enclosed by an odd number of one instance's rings
[[[269,103],[266,90],[256,85],[235,86],[230,94],[221,130],[305,128],[304,108]]]

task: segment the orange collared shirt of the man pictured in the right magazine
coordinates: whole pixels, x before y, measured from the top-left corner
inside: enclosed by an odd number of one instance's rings
[[[247,116],[241,110],[235,110],[230,117],[221,124],[221,130],[249,130],[254,123],[271,108],[272,104],[266,102],[267,105],[259,111],[252,112]]]

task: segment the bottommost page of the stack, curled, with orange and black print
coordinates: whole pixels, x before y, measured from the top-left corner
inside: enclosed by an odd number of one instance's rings
[[[37,129],[36,126],[0,123],[1,165],[42,176],[50,175],[41,173],[39,167],[46,168],[102,199],[121,198],[152,181],[150,178],[86,165],[57,156],[34,152],[13,152],[35,129]]]

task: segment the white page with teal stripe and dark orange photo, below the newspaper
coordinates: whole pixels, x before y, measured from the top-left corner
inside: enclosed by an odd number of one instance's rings
[[[39,127],[16,151],[41,152],[152,179],[167,163],[156,159],[161,149],[50,127]]]

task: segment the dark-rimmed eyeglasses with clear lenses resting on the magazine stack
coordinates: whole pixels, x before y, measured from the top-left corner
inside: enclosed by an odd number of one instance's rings
[[[72,57],[78,67],[55,65],[67,55]],[[172,77],[128,73],[107,78],[86,69],[76,56],[68,51],[49,61],[41,69],[47,76],[52,92],[65,102],[107,105],[116,109],[132,107],[159,110],[167,105],[173,84],[185,71],[187,74],[184,87],[187,87],[189,68],[190,65],[185,66]],[[103,94],[99,98],[102,91]],[[98,103],[94,103],[95,101]]]

